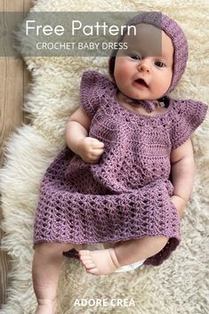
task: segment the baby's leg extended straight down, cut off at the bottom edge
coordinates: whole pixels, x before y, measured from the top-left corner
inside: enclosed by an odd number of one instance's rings
[[[36,245],[33,261],[33,285],[37,299],[36,314],[56,312],[56,294],[60,277],[63,252],[73,245],[65,243],[41,243]]]

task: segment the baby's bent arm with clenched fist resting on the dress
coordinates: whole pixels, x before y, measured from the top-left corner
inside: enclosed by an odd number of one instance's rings
[[[97,139],[88,137],[92,119],[82,107],[69,117],[66,127],[68,147],[82,157],[86,163],[97,163],[104,151],[104,144]]]

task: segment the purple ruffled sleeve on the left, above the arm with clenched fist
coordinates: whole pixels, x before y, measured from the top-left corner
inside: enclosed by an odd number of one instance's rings
[[[87,70],[81,78],[80,103],[89,117],[93,117],[102,103],[102,94],[110,81],[101,73]]]

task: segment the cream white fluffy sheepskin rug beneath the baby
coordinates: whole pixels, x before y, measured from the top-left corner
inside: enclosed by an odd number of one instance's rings
[[[162,11],[177,20],[189,40],[188,68],[173,97],[208,101],[208,1],[38,0],[36,11]],[[24,108],[33,118],[12,136],[1,172],[3,246],[12,260],[8,302],[0,313],[29,314],[36,306],[31,283],[33,219],[38,187],[52,158],[64,145],[68,116],[78,104],[85,68],[107,71],[105,58],[26,58],[33,81]],[[208,278],[209,121],[193,137],[197,178],[181,223],[181,245],[160,267],[96,278],[77,261],[65,259],[59,286],[59,314],[206,314]],[[207,149],[207,150],[206,150]],[[76,299],[107,299],[79,306]],[[128,299],[116,303],[114,299]],[[133,302],[130,302],[133,299]],[[112,303],[111,303],[112,301]],[[81,305],[81,304],[80,304]],[[101,305],[101,306],[100,306]],[[102,306],[103,305],[103,306]],[[107,306],[106,306],[107,305]],[[128,306],[130,305],[130,306]],[[133,306],[135,305],[135,306]]]

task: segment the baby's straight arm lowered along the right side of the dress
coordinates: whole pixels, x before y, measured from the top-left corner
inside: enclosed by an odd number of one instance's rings
[[[172,201],[181,216],[191,195],[195,176],[195,163],[190,140],[172,150],[171,164],[174,187]]]

